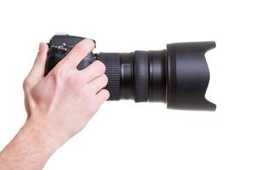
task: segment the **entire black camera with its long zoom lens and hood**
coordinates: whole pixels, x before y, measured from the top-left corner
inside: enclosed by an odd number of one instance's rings
[[[55,35],[48,42],[45,76],[84,37]],[[158,51],[90,53],[77,65],[82,70],[98,59],[105,64],[109,100],[163,102],[168,108],[214,111],[205,99],[209,70],[204,54],[215,42],[171,43]]]

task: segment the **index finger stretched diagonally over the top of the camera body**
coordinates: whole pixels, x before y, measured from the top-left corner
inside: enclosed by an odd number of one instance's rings
[[[86,57],[95,47],[94,41],[85,38],[81,42],[78,42],[74,48],[71,49],[69,54],[61,59],[60,65],[71,69],[77,69],[77,65]]]

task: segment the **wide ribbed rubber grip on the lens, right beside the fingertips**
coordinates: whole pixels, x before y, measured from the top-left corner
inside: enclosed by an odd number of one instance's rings
[[[100,61],[105,64],[105,75],[108,77],[106,89],[110,92],[109,100],[119,100],[121,95],[120,88],[120,57],[113,53],[100,53]]]

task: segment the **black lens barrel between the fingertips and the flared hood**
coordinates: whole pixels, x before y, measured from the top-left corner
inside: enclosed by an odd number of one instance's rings
[[[166,100],[166,51],[100,53],[106,65],[110,100],[134,99],[135,102]]]

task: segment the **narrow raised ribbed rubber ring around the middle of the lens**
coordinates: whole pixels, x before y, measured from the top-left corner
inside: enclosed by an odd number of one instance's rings
[[[148,100],[149,56],[145,51],[134,52],[135,102]]]

